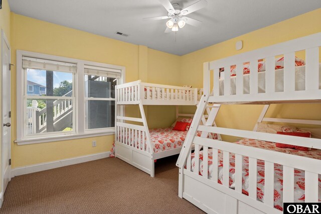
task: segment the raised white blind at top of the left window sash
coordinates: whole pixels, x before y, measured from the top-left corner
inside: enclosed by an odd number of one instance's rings
[[[22,67],[39,70],[76,72],[77,65],[75,63],[60,62],[47,59],[39,59],[33,57],[23,57]]]

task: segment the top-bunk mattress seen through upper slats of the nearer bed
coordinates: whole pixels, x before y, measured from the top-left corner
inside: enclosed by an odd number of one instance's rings
[[[275,70],[275,92],[284,91],[284,69]],[[321,63],[319,64],[321,89]],[[295,67],[295,90],[305,90],[305,65]],[[258,72],[258,92],[265,93],[265,71]],[[243,93],[250,93],[250,74],[243,75]],[[236,94],[236,76],[231,76],[230,94]],[[220,79],[220,95],[224,95],[224,79]]]

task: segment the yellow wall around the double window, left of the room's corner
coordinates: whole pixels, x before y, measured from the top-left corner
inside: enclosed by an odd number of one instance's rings
[[[83,31],[43,22],[25,16],[11,14],[12,57],[16,61],[17,50],[52,54],[76,59],[83,59],[101,63],[121,65],[126,67],[126,81],[134,81],[139,77],[138,67],[147,67],[151,72],[171,72],[177,80],[179,76],[179,57],[159,51],[150,50],[144,46],[133,45],[118,40],[86,33]],[[140,57],[140,59],[139,59]],[[175,61],[174,59],[178,59]],[[173,58],[173,59],[172,59]],[[147,60],[148,59],[148,60]],[[150,61],[151,60],[151,61]],[[156,70],[153,70],[153,67]],[[171,71],[169,67],[173,67]],[[164,71],[163,71],[164,70]],[[174,74],[176,72],[176,74]],[[150,74],[151,81],[167,83],[166,75]],[[13,140],[16,139],[16,71],[12,72],[13,86]],[[126,108],[126,114],[138,116],[137,108]],[[173,123],[175,116],[163,115]],[[164,118],[163,117],[163,118]],[[171,118],[172,117],[172,118]],[[164,123],[161,120],[161,125]],[[113,135],[60,142],[40,143],[18,146],[12,143],[12,168],[72,158],[88,154],[109,151]],[[97,141],[97,147],[92,147],[92,140]]]

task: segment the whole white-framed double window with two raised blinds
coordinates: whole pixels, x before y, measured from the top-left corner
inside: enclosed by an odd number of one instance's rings
[[[27,51],[17,65],[19,145],[114,134],[124,67]]]

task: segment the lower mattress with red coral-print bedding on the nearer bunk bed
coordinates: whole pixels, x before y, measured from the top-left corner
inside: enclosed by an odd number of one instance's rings
[[[293,155],[304,156],[313,159],[321,159],[321,150],[311,149],[309,151],[300,151],[288,148],[278,148],[275,146],[275,143],[253,140],[253,139],[243,139],[236,144],[257,147],[267,150],[273,150]],[[208,151],[208,175],[209,179],[212,178],[212,162],[213,160],[213,151],[209,149]],[[191,171],[194,171],[195,167],[195,155],[192,153],[192,163]],[[235,187],[234,183],[234,173],[235,173],[235,155],[230,153],[230,179],[229,185],[230,188]],[[200,151],[200,174],[203,175],[203,151]],[[248,157],[243,158],[243,167],[242,167],[242,192],[243,194],[248,195],[248,181],[249,175],[249,161]],[[318,200],[321,201],[321,176],[319,175],[319,190],[318,190]],[[218,150],[218,183],[223,183],[223,152]],[[294,170],[294,202],[304,202],[304,171],[295,169]],[[282,210],[283,206],[283,167],[280,164],[274,164],[274,207]],[[257,199],[264,202],[264,161],[257,160]]]

